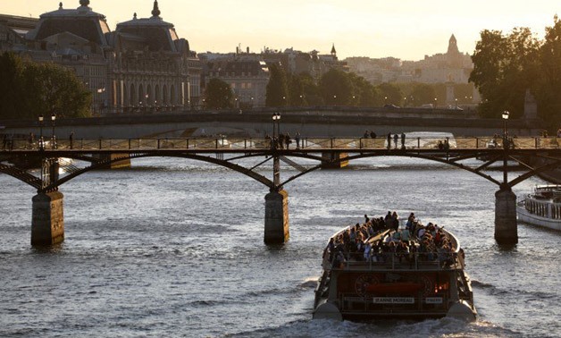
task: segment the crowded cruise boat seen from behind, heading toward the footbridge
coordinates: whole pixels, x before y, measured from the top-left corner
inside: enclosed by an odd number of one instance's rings
[[[314,319],[474,320],[471,281],[456,237],[411,216],[405,227],[388,223],[366,217],[331,237]]]

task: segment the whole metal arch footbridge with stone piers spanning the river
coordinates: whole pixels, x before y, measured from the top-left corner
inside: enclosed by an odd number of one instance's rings
[[[265,242],[289,239],[288,193],[284,186],[319,168],[337,167],[358,158],[408,156],[436,161],[467,170],[498,185],[495,238],[499,243],[517,241],[515,194],[512,187],[533,175],[561,164],[557,138],[453,137],[398,135],[398,138],[305,138],[280,144],[277,139],[188,138],[188,139],[73,139],[43,142],[14,139],[0,150],[0,173],[13,176],[38,191],[33,198],[33,244],[63,241],[63,195],[65,182],[91,170],[130,159],[169,156],[222,165],[243,173],[269,188],[265,197]],[[476,158],[478,161],[473,161]],[[541,161],[534,161],[540,158]],[[73,161],[71,161],[71,160]],[[247,165],[253,159],[255,163]],[[306,159],[306,164],[298,164]],[[309,160],[316,163],[310,165]],[[280,162],[294,170],[281,173]],[[243,162],[243,163],[242,163]],[[302,162],[302,161],[300,161]],[[508,178],[512,163],[519,165],[515,178]],[[540,165],[535,165],[540,163]],[[272,165],[270,175],[255,169]],[[502,180],[489,173],[500,168]],[[498,165],[497,165],[498,164]],[[41,170],[29,170],[29,168]],[[522,169],[520,169],[522,168]],[[161,173],[158,173],[161,174]],[[287,177],[285,174],[289,174]],[[375,174],[375,171],[373,171]]]

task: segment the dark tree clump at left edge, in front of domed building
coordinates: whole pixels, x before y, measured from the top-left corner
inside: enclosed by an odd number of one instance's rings
[[[0,119],[88,117],[90,104],[91,93],[72,70],[0,55]]]

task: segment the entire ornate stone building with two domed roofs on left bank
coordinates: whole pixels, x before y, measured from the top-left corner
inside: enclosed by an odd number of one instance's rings
[[[23,54],[73,68],[92,91],[96,114],[155,113],[197,105],[197,54],[177,36],[172,23],[163,21],[157,1],[151,17],[139,19],[135,13],[113,32],[105,15],[94,12],[89,3],[80,0],[77,9],[64,9],[60,3],[58,10],[42,14],[26,36],[29,49]]]

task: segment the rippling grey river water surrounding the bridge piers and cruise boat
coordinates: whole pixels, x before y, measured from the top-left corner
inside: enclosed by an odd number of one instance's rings
[[[63,185],[66,239],[48,250],[29,245],[33,189],[0,175],[0,336],[561,336],[561,233],[519,224],[519,244],[498,247],[498,187],[473,173],[380,157],[307,174],[285,187],[290,241],[267,247],[260,183],[190,160],[132,165]],[[271,167],[261,172],[270,177]],[[327,239],[388,210],[456,234],[476,322],[311,319]]]

